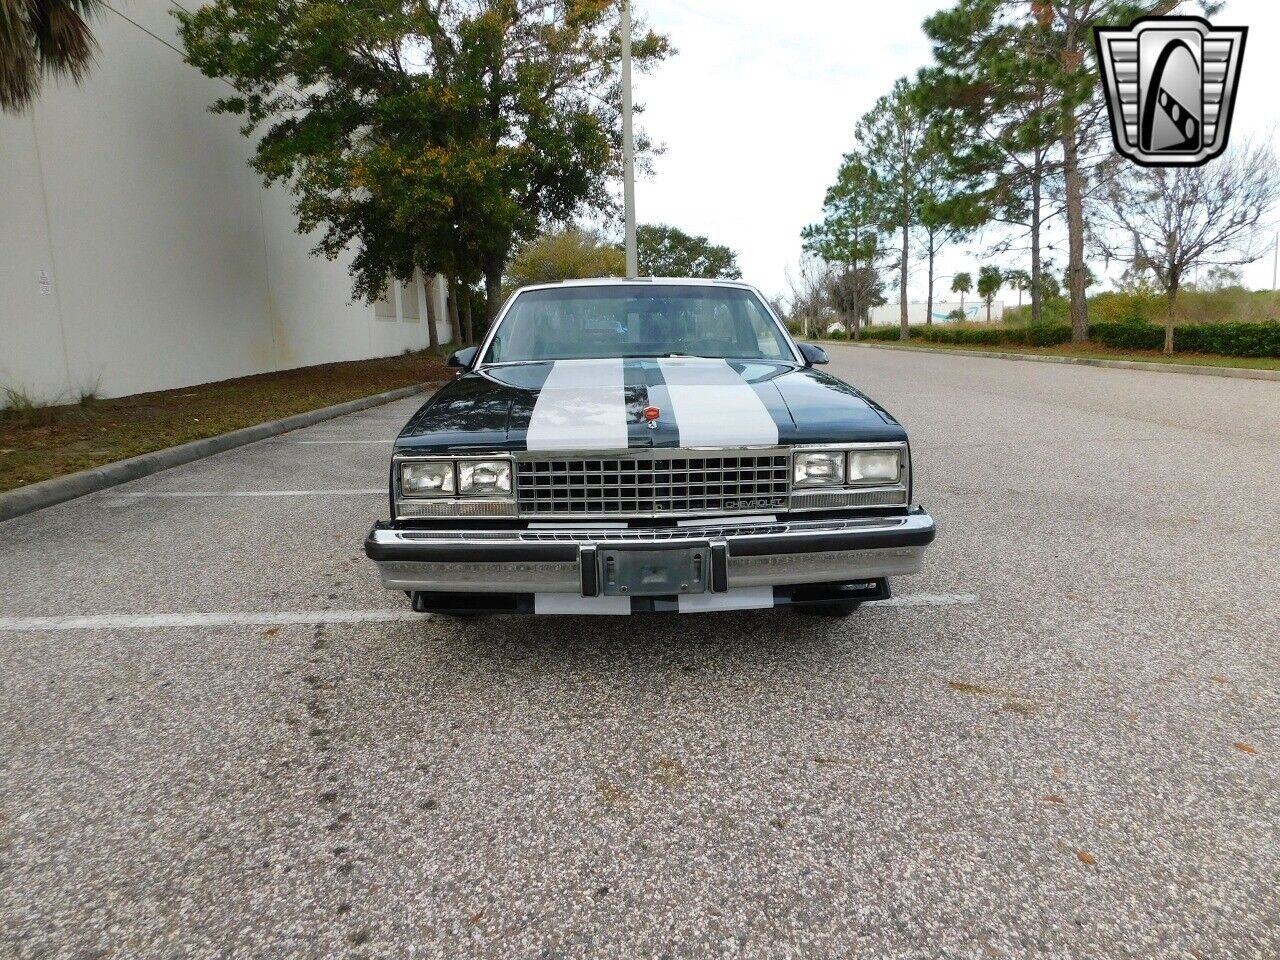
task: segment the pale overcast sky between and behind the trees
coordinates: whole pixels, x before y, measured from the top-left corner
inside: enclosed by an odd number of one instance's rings
[[[669,223],[727,243],[744,279],[765,293],[786,289],[800,256],[800,228],[820,219],[822,197],[858,118],[897,77],[929,61],[922,20],[948,4],[932,0],[632,0],[678,54],[636,78],[644,128],[666,152],[636,187],[641,223]],[[1231,142],[1274,137],[1280,109],[1280,4],[1231,0],[1215,18],[1249,27]],[[988,236],[986,241],[993,239]],[[1053,238],[1051,238],[1052,241]],[[977,271],[979,239],[948,251],[943,275]],[[1052,252],[1050,256],[1055,256]],[[1000,259],[1028,266],[1025,255]],[[1055,260],[1061,265],[1065,256]],[[1101,274],[1101,265],[1096,265]],[[1245,271],[1270,287],[1271,257]],[[924,297],[924,269],[910,278]],[[893,298],[893,297],[891,297]]]

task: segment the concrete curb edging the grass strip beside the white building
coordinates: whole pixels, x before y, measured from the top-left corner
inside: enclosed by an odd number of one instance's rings
[[[52,507],[55,503],[64,503],[77,497],[83,497],[87,493],[105,490],[108,486],[159,474],[161,470],[168,470],[169,467],[204,460],[215,453],[243,447],[247,443],[265,440],[269,436],[279,436],[289,430],[300,430],[303,426],[311,426],[312,424],[333,420],[347,413],[357,413],[370,407],[380,407],[384,403],[404,399],[416,393],[425,393],[438,385],[424,383],[415,384],[413,387],[401,387],[397,390],[376,393],[372,397],[361,397],[346,403],[335,403],[332,407],[308,410],[305,413],[294,413],[283,420],[271,420],[265,424],[246,426],[239,430],[232,430],[228,434],[206,436],[204,440],[192,440],[178,447],[166,447],[163,451],[143,453],[140,457],[118,460],[114,463],[104,463],[100,467],[82,470],[78,474],[55,476],[50,480],[41,480],[38,484],[31,484],[31,486],[6,490],[5,493],[0,493],[0,521],[20,517],[23,513],[33,513],[37,509]]]

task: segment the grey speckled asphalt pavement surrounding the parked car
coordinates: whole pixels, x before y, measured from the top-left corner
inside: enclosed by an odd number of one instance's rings
[[[847,621],[408,617],[416,399],[0,524],[0,956],[1280,955],[1280,384],[832,353]]]

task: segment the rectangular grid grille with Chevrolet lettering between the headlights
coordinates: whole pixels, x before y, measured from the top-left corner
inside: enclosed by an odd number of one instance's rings
[[[786,451],[538,457],[516,463],[522,516],[671,516],[786,509]]]

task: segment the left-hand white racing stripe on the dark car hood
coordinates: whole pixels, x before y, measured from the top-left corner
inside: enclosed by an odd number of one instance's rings
[[[558,360],[529,417],[531,451],[627,448],[621,360]]]

